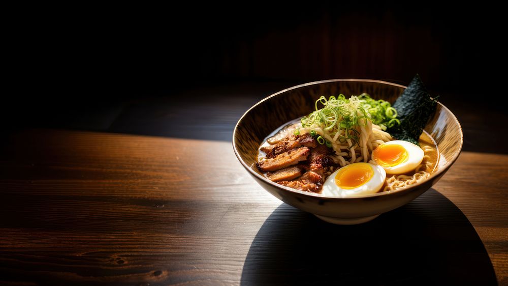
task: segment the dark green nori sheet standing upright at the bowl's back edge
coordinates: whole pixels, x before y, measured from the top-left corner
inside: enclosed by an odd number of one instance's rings
[[[417,74],[392,106],[397,109],[400,125],[388,128],[387,132],[395,139],[419,145],[423,128],[436,111],[437,97],[430,97]]]

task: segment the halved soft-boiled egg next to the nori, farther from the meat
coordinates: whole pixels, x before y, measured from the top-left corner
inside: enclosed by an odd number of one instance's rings
[[[372,151],[372,159],[386,174],[399,175],[412,171],[422,163],[423,150],[411,142],[393,140],[379,145]]]

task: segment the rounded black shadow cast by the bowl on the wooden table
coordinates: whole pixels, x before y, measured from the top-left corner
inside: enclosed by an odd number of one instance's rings
[[[434,189],[358,225],[335,225],[287,204],[267,218],[242,285],[495,285],[485,247],[465,215]]]

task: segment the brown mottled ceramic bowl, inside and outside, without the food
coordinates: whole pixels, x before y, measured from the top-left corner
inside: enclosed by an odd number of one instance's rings
[[[248,173],[282,202],[336,224],[357,224],[401,207],[427,191],[455,162],[462,150],[463,134],[457,118],[438,102],[437,110],[425,127],[436,141],[439,162],[430,178],[392,192],[353,198],[326,197],[274,183],[263,176],[255,163],[258,148],[274,130],[291,120],[308,115],[321,95],[340,93],[347,97],[368,93],[374,99],[393,103],[406,87],[380,80],[331,79],[297,85],[277,92],[252,106],[240,118],[233,132],[233,149]]]

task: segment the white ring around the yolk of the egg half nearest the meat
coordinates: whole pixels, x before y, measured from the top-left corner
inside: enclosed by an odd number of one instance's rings
[[[343,166],[342,168],[346,168],[354,164],[359,163],[349,164]],[[335,176],[337,176],[337,173],[339,173],[339,171],[342,169],[340,168],[334,171],[332,175],[328,176],[325,183],[323,184],[323,190],[321,193],[325,196],[331,197],[352,197],[373,194],[379,191],[381,187],[383,187],[383,184],[385,183],[386,178],[385,169],[382,166],[375,165],[372,163],[363,163],[363,164],[369,164],[372,167],[373,175],[369,181],[365,182],[363,185],[354,189],[343,189],[335,184]]]

